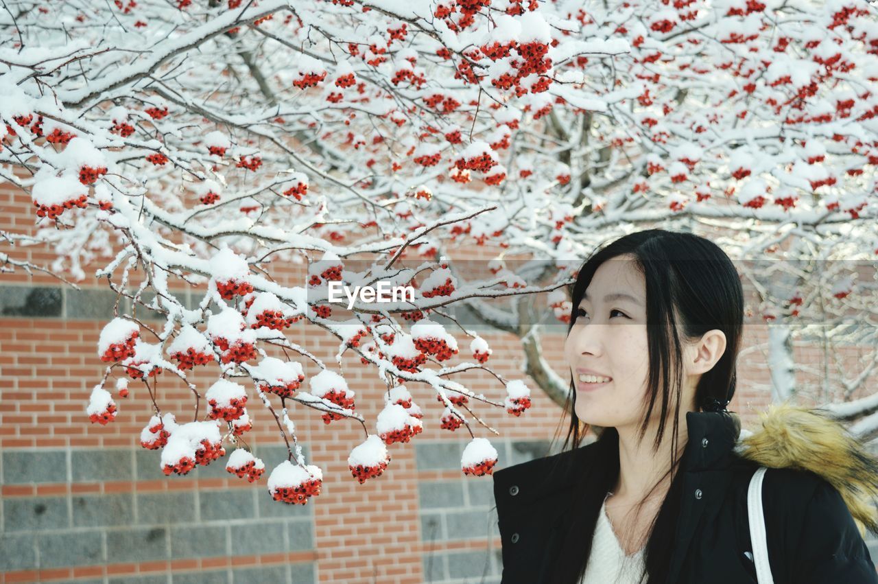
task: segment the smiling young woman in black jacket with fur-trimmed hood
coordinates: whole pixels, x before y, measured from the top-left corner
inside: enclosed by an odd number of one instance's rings
[[[572,306],[565,447],[493,472],[503,584],[756,582],[760,465],[774,582],[878,584],[862,537],[878,530],[874,456],[816,410],[771,408],[741,438],[725,408],[744,294],[722,249],[626,235],[587,259]],[[580,447],[589,428],[599,437]]]

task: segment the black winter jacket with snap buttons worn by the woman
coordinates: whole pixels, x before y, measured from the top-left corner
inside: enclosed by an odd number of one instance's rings
[[[688,442],[681,461],[685,476],[669,584],[757,581],[752,559],[745,554],[752,550],[746,499],[750,479],[760,464],[774,466],[766,472],[762,501],[775,584],[878,584],[861,523],[854,521],[846,500],[827,480],[831,477],[801,470],[789,461],[778,463],[778,451],[767,452],[771,448],[759,449],[762,454],[751,449],[748,456],[752,459],[745,458],[738,442],[739,427],[730,415],[687,412],[686,423]],[[755,437],[798,441],[781,444],[780,451],[808,453],[810,443],[817,441],[802,443],[801,436],[807,434],[782,430],[774,436]],[[573,472],[566,471],[569,458],[557,466],[554,463],[558,457],[572,456],[573,467],[582,468],[594,456],[595,445],[493,472],[502,541],[501,584],[548,581],[549,568],[558,557],[559,538],[572,521],[568,509],[574,490]],[[810,460],[811,467],[817,463],[827,469],[840,468],[821,465],[819,457],[825,452],[811,454],[817,457]],[[878,488],[874,475],[860,479],[873,481],[867,492]],[[862,507],[858,510],[863,512]],[[874,528],[871,518],[866,523]]]

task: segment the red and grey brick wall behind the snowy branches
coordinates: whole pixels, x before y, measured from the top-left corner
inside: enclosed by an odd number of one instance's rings
[[[0,190],[0,211],[5,222],[0,227],[32,231],[26,195]],[[46,249],[10,251],[35,263],[51,258]],[[477,251],[484,257],[489,250]],[[85,273],[99,265],[85,266]],[[301,282],[294,267],[273,268],[282,284]],[[390,447],[385,474],[363,485],[350,476],[346,462],[365,437],[362,428],[356,422],[326,426],[318,413],[296,404],[291,417],[306,461],[324,471],[322,494],[304,507],[271,501],[265,479],[250,485],[225,472],[221,461],[166,478],[158,453],[139,446],[150,414],[142,385],[132,383],[132,395],[117,399],[115,422],[106,427],[88,422],[90,389],[104,372],[97,335],[112,317],[116,297],[105,282],[87,278],[80,285],[83,290],[76,291],[45,274],[20,271],[0,280],[3,582],[500,581],[492,479],[460,472],[468,436],[465,429],[438,428],[442,406],[427,388],[410,386],[424,409],[424,432],[412,443]],[[179,296],[191,306],[198,291]],[[121,308],[126,307],[123,299]],[[475,328],[472,322],[464,325]],[[480,332],[494,351],[489,364],[507,379],[519,378],[520,342]],[[333,337],[303,327],[294,327],[289,337],[337,370]],[[753,325],[745,346],[765,338],[765,328]],[[557,371],[564,370],[562,343],[562,336],[551,334],[543,343],[543,355]],[[853,363],[855,348],[841,357]],[[817,370],[823,356],[798,347],[797,358]],[[313,364],[297,360],[306,375],[316,372]],[[191,379],[205,388],[216,370],[199,369]],[[753,353],[741,369],[731,409],[746,423],[768,401],[764,356]],[[358,357],[343,357],[342,371],[356,392],[356,410],[374,431],[384,384]],[[457,380],[489,397],[502,396],[487,373]],[[191,394],[179,379],[162,374],[158,388],[168,411],[191,411]],[[248,441],[270,469],[286,458],[285,447],[270,415],[255,404],[250,409],[255,429]],[[479,414],[500,432],[492,436],[473,426],[476,436],[489,437],[500,452],[499,467],[543,456],[558,424],[565,428],[559,408],[538,392],[521,418],[499,408],[481,408]]]

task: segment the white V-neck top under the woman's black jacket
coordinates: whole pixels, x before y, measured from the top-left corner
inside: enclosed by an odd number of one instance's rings
[[[579,584],[637,584],[644,571],[645,548],[630,556],[625,555],[615,537],[613,525],[609,523],[606,504],[607,497],[604,497],[598,523],[594,527],[594,541],[586,573]]]

